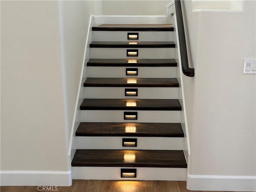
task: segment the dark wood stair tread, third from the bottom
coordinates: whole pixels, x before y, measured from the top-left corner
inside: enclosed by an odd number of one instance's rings
[[[136,103],[136,106],[126,106]],[[181,110],[178,99],[84,99],[80,110]]]

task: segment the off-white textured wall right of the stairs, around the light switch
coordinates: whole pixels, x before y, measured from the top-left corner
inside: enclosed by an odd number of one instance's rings
[[[192,1],[183,3],[195,68],[194,78],[183,78],[188,173],[255,176],[256,76],[242,74],[243,59],[256,58],[255,1],[243,1],[240,10],[193,10]]]

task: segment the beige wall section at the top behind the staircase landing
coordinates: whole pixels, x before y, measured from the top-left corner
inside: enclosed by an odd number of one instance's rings
[[[171,0],[103,0],[103,15],[166,15]]]

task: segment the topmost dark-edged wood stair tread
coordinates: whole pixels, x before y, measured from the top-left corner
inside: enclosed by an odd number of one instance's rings
[[[167,24],[102,24],[92,27],[93,31],[173,31]]]

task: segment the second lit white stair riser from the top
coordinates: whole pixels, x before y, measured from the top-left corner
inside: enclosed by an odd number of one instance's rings
[[[128,49],[138,49],[138,57],[127,56]],[[90,48],[93,59],[173,59],[175,48]]]

